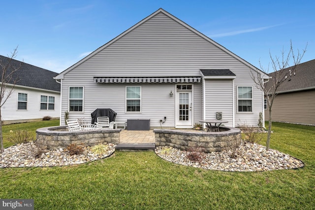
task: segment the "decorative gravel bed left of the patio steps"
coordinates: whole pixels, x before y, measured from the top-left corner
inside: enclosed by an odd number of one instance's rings
[[[51,167],[82,164],[110,156],[115,152],[116,144],[109,143],[108,150],[101,155],[93,153],[91,147],[84,147],[80,155],[70,155],[66,149],[47,150],[35,158],[28,149],[33,142],[18,144],[4,149],[0,153],[0,168],[6,167]]]

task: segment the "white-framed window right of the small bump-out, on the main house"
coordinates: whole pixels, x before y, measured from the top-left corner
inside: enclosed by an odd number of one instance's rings
[[[238,111],[252,112],[252,87],[238,87]]]

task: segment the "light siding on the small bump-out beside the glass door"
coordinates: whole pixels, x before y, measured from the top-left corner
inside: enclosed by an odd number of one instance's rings
[[[206,119],[216,119],[216,112],[222,112],[225,126],[233,125],[233,99],[231,79],[206,79]]]

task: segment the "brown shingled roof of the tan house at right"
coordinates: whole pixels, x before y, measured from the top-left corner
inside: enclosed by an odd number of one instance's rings
[[[292,70],[292,67],[288,67],[283,70],[277,71],[277,73],[287,73]],[[269,76],[273,76],[276,72],[269,73]],[[268,88],[267,82],[267,88]],[[270,83],[269,83],[270,85]],[[315,89],[315,60],[311,60],[296,66],[294,72],[287,74],[287,79],[284,81],[277,93],[293,92],[300,90]]]

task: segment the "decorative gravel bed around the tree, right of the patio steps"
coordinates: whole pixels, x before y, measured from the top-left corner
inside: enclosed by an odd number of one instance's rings
[[[238,156],[231,158],[232,150],[191,155],[168,146],[158,146],[156,154],[164,160],[191,167],[230,172],[261,172],[281,169],[297,169],[304,167],[302,161],[274,149],[266,151],[266,147],[256,143],[242,143],[238,148]],[[190,155],[189,155],[190,154]],[[192,161],[198,156],[199,161]],[[190,157],[190,159],[189,159]]]

